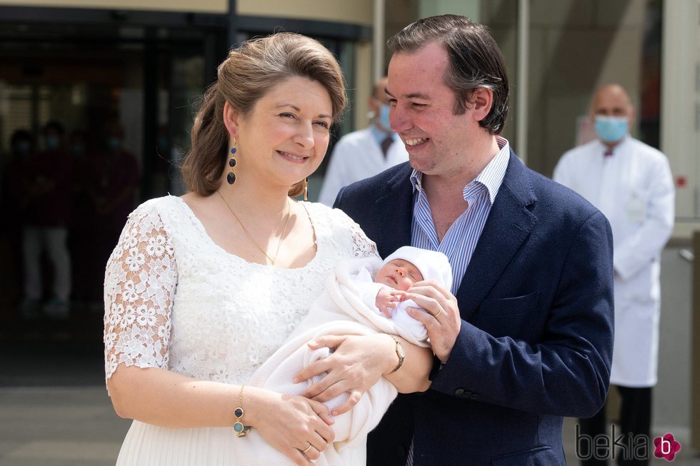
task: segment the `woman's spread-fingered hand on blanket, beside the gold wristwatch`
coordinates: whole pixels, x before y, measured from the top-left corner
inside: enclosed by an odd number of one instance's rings
[[[307,388],[302,396],[325,402],[349,393],[349,398],[331,412],[341,415],[352,409],[361,396],[374,385],[382,375],[396,367],[397,356],[394,339],[384,333],[374,335],[325,335],[308,343],[316,350],[326,347],[333,351],[328,357],[306,366],[296,374],[294,383],[309,380],[316,375],[326,376]]]

